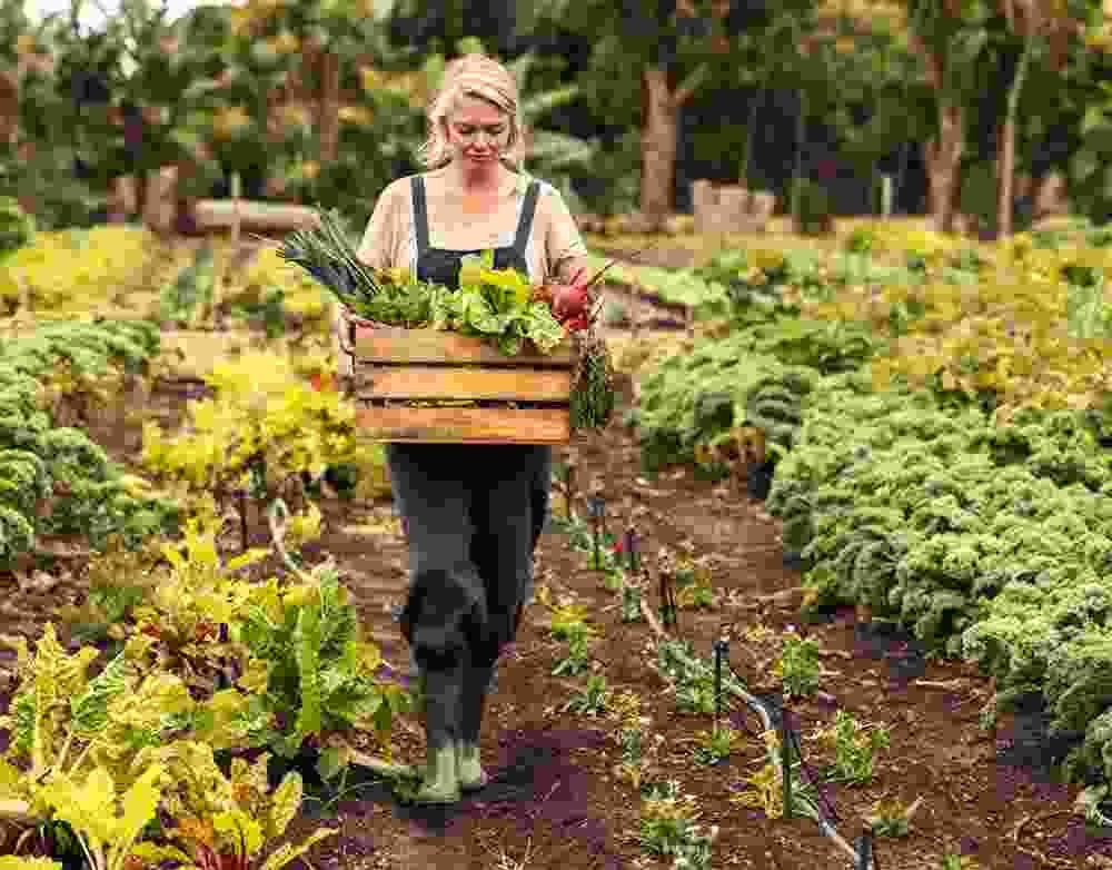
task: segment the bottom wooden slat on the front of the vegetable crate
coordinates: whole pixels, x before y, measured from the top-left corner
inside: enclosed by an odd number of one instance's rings
[[[567,444],[568,408],[358,408],[358,437],[441,444]]]

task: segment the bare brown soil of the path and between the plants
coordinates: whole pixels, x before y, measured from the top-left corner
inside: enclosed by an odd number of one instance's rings
[[[168,385],[149,397],[137,396],[163,425],[180,419],[187,395]],[[993,870],[1034,870],[1041,867],[1112,866],[1112,832],[1101,838],[1071,814],[1078,787],[1055,784],[1039,770],[1010,763],[1009,741],[1017,739],[1015,718],[1002,714],[995,742],[979,728],[977,713],[990,696],[989,682],[961,663],[925,661],[922,674],[909,680],[901,672],[915,658],[886,656],[855,639],[855,614],[845,609],[824,624],[802,624],[798,616],[801,575],[785,567],[778,523],[744,484],[697,480],[692,468],[666,469],[647,480],[639,467],[633,433],[615,415],[610,426],[577,437],[555,451],[564,462],[574,457],[582,490],[598,484],[607,498],[610,531],[633,522],[647,554],[649,583],[646,600],[654,610],[656,554],[661,547],[688,552],[712,571],[717,607],[679,613],[678,633],[703,659],[712,656],[717,637],[731,640],[729,663],[754,693],[777,695],[770,673],[778,655],[775,635],[747,640],[746,629],[763,625],[776,634],[795,625],[821,649],[820,692],[790,701],[795,728],[812,770],[834,759],[833,750],[810,735],[830,726],[837,710],[870,725],[890,730],[891,744],[877,753],[875,775],[863,785],[827,784],[826,799],[836,817],[828,817],[851,843],[862,830],[862,818],[877,799],[910,804],[922,799],[911,821],[910,836],[878,837],[876,866],[884,870],[935,870],[946,853],[974,856]],[[135,461],[141,424],[120,426],[118,417],[89,424],[93,437],[113,458]],[[582,504],[576,504],[583,514]],[[305,548],[308,561],[324,554],[338,561],[342,576],[356,593],[368,633],[388,662],[408,670],[408,651],[390,614],[405,596],[405,541],[388,501],[322,503],[326,531]],[[257,520],[257,517],[256,517]],[[265,541],[261,523],[254,523],[252,541]],[[79,580],[86,561],[73,542],[44,542],[59,560],[32,580],[0,574],[0,633],[38,636],[53,607],[82,595]],[[229,552],[239,548],[238,531],[229,533]],[[68,547],[68,550],[67,550]],[[270,566],[267,566],[270,567]],[[587,556],[569,548],[565,535],[546,533],[537,552],[537,585],[554,599],[573,595],[587,607],[599,632],[592,647],[595,668],[615,693],[635,692],[648,733],[664,738],[657,757],[656,781],[675,780],[682,794],[696,799],[698,822],[721,828],[712,866],[813,870],[850,867],[845,854],[810,819],[767,819],[756,809],[731,802],[742,780],[764,761],[761,722],[735,702],[732,721],[739,744],[717,767],[692,758],[691,742],[713,726],[713,716],[677,712],[663,679],[651,666],[653,632],[644,623],[620,621],[619,599],[588,569]],[[500,664],[497,691],[484,725],[483,758],[493,783],[446,811],[415,811],[393,800],[387,788],[367,783],[340,799],[335,812],[307,811],[294,828],[338,827],[340,836],[310,853],[319,870],[360,868],[444,868],[453,870],[602,870],[603,868],[671,868],[672,859],[647,854],[631,838],[638,828],[637,791],[612,771],[620,751],[614,742],[615,722],[607,716],[580,716],[559,708],[586,678],[554,678],[550,672],[566,651],[547,633],[547,610],[527,609],[516,644]],[[0,653],[0,666],[10,655]],[[2,686],[0,686],[2,691]],[[0,694],[0,710],[7,698]],[[394,740],[399,760],[419,763],[424,736],[416,716],[398,723]],[[1091,860],[1089,860],[1091,859]]]

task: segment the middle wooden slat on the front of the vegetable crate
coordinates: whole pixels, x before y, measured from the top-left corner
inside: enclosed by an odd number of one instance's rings
[[[567,402],[570,369],[513,369],[460,366],[358,366],[358,398],[459,398],[505,402]]]

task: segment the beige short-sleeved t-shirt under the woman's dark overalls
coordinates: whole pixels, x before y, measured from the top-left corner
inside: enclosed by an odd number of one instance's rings
[[[519,184],[497,208],[476,216],[463,211],[458,196],[445,196],[443,172],[425,177],[428,244],[434,248],[476,250],[509,247],[525,201],[526,185]],[[540,284],[553,278],[563,260],[586,257],[587,246],[559,190],[539,181],[537,209],[525,247],[529,280]],[[391,181],[375,204],[357,256],[376,268],[408,267],[417,273],[417,236],[413,214],[413,176]]]

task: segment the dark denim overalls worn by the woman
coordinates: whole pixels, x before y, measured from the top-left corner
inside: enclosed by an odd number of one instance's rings
[[[528,271],[525,246],[539,185],[529,184],[517,235],[495,268]],[[429,247],[424,179],[413,178],[417,278],[458,288],[460,257]],[[548,511],[552,447],[517,444],[388,444],[394,497],[409,543],[401,633],[425,681],[431,744],[478,741],[502,649],[532,595],[533,553]]]

